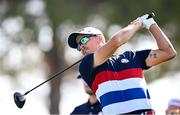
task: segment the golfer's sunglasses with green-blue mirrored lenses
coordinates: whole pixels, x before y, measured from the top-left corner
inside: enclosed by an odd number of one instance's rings
[[[81,51],[80,46],[82,44],[87,44],[88,41],[90,40],[90,37],[93,37],[93,36],[97,36],[97,35],[86,35],[86,36],[82,37],[81,40],[78,43],[77,50]]]

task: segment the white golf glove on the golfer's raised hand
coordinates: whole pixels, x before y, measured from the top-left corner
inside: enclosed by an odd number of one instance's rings
[[[147,19],[148,16],[149,16],[148,14],[145,14],[145,15],[139,17],[139,19],[140,19],[140,20],[142,21],[142,23],[143,23],[143,27],[145,27],[145,28],[147,28],[147,29],[149,29],[151,25],[153,25],[153,24],[156,23],[153,18]]]

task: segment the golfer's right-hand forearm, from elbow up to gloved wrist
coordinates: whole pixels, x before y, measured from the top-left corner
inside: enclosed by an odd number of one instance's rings
[[[154,36],[159,50],[162,50],[173,57],[176,55],[176,51],[173,45],[169,41],[168,37],[164,34],[164,32],[158,27],[157,24],[153,24],[150,27],[150,32]]]

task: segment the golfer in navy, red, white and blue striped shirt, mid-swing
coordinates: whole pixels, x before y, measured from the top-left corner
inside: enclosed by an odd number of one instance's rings
[[[148,17],[146,14],[132,21],[108,42],[105,42],[103,33],[94,27],[80,29],[68,37],[69,46],[84,55],[79,72],[96,94],[105,115],[154,114],[143,72],[174,58],[176,51],[155,20]],[[119,47],[144,27],[154,37],[157,48],[132,49],[114,55]]]

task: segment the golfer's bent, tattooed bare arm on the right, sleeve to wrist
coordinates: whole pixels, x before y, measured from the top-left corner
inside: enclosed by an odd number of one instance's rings
[[[152,25],[150,27],[150,32],[156,40],[158,49],[151,50],[146,59],[146,65],[152,67],[174,58],[176,56],[176,51],[168,37],[162,32],[159,26],[157,24]]]

